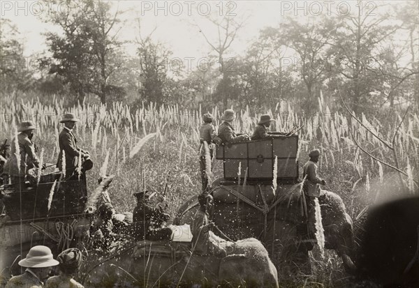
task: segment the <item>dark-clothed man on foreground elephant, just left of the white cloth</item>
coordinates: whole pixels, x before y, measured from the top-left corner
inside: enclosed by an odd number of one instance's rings
[[[133,212],[133,233],[138,240],[170,240],[172,229],[163,227],[163,222],[170,219],[170,215],[163,213],[163,209],[158,206],[156,208],[149,204],[148,191],[138,192],[134,194],[137,198],[137,206]]]

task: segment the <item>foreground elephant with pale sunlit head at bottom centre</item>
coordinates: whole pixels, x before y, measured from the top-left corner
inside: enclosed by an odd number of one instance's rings
[[[228,255],[219,258],[196,255],[185,243],[126,244],[105,255],[91,252],[80,269],[79,282],[84,287],[279,288],[277,269],[260,241],[231,242],[226,250]]]

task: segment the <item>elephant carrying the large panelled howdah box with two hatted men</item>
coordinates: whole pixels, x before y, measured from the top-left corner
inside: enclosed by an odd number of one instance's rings
[[[223,184],[223,179],[212,183],[214,209],[212,221],[229,238],[258,238],[270,253],[279,275],[292,275],[295,269],[310,270],[309,250],[316,240],[311,238],[304,215],[301,183],[278,185]],[[249,192],[249,189],[255,189]],[[242,191],[238,193],[237,191]],[[238,198],[240,197],[240,199]],[[250,202],[249,202],[250,200]],[[334,192],[321,191],[321,205],[325,248],[337,252],[348,272],[355,271],[351,259],[353,251],[353,224],[346,213],[344,202]],[[198,209],[197,197],[191,197],[177,211],[176,225],[191,225]]]

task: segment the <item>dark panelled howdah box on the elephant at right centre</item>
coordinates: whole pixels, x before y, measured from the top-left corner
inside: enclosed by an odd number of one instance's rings
[[[293,135],[216,146],[216,159],[223,160],[224,179],[237,180],[241,163],[241,179],[244,179],[248,169],[248,180],[272,181],[274,158],[277,156],[277,181],[297,181],[297,149],[298,135]]]

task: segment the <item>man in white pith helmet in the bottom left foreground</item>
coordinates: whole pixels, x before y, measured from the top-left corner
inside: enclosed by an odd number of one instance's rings
[[[50,248],[43,245],[34,246],[19,265],[26,268],[22,275],[11,278],[5,288],[41,288],[50,273],[51,267],[59,262],[52,257]]]

